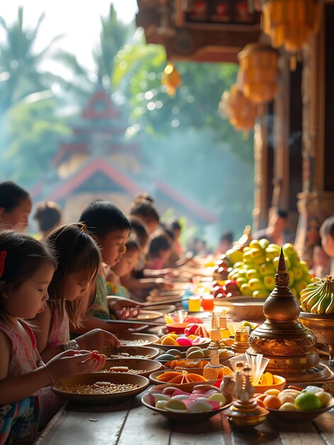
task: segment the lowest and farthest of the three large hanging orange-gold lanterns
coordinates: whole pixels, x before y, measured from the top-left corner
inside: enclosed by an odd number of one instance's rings
[[[255,124],[257,105],[247,99],[237,85],[232,85],[230,92],[223,93],[218,111],[221,117],[228,117],[235,129],[249,132]]]

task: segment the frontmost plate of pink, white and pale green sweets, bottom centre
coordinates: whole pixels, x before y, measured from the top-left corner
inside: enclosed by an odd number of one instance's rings
[[[212,385],[157,385],[142,398],[142,403],[169,422],[204,422],[228,407],[217,387]]]

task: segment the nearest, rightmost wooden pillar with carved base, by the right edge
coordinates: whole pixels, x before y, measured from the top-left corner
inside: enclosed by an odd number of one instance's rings
[[[334,214],[334,2],[321,3],[321,26],[305,50],[303,70],[303,191],[296,248],[312,264],[319,227]]]

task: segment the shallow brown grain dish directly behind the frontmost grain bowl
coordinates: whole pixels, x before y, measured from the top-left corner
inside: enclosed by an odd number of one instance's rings
[[[123,372],[112,369],[113,367],[118,368],[123,366],[137,372]],[[148,377],[152,372],[159,371],[162,368],[163,365],[161,363],[145,358],[110,358],[106,360],[106,365],[102,368],[104,372],[99,371],[96,372],[96,374],[105,375],[109,372],[120,372],[122,374],[144,375],[144,377]]]

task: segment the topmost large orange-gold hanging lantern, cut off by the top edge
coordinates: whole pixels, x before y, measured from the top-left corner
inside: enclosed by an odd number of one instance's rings
[[[262,4],[262,28],[271,37],[272,46],[298,53],[319,27],[317,0],[265,0]]]

